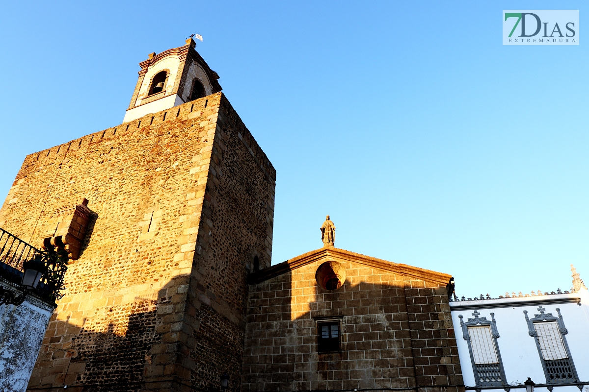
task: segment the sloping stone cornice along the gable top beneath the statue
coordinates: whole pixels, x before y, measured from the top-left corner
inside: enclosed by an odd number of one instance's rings
[[[349,250],[345,249],[323,247],[321,249],[312,250],[311,252],[303,253],[300,256],[293,257],[293,259],[287,260],[286,262],[282,262],[272,267],[254,272],[249,276],[249,283],[261,283],[264,282],[264,280],[272,279],[273,277],[282,275],[283,273],[290,272],[299,267],[305,266],[306,264],[317,262],[322,259],[355,262],[364,264],[368,267],[378,268],[403,275],[408,277],[408,279],[421,279],[444,285],[447,284],[448,280],[451,278],[451,275],[441,272],[413,267],[407,264],[392,263],[386,260],[376,259],[375,257],[365,256],[364,254],[349,252]]]

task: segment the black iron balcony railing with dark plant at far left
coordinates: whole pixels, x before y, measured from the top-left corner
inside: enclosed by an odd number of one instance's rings
[[[0,277],[14,284],[21,284],[23,263],[41,256],[46,272],[41,283],[34,290],[38,296],[55,301],[62,297],[67,258],[59,257],[54,251],[39,250],[13,234],[0,228]]]

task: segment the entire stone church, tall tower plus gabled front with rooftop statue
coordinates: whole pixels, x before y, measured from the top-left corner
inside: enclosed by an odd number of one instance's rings
[[[71,254],[27,391],[464,390],[448,274],[337,249],[329,219],[271,266],[276,170],[194,47],[16,176],[0,227]]]

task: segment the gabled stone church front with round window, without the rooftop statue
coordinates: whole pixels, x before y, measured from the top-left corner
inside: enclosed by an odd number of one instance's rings
[[[328,246],[253,273],[241,390],[463,390],[449,279]]]

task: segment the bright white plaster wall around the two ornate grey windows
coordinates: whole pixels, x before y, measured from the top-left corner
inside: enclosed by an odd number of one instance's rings
[[[560,309],[565,327],[568,330],[568,334],[565,337],[579,379],[581,381],[589,381],[589,296],[586,290],[577,294],[562,294],[562,297],[579,296],[581,297],[581,306],[576,303],[565,303],[546,304],[543,307],[546,308],[544,313],[552,313],[552,316],[555,317],[558,317],[556,308]],[[554,295],[547,296],[547,298],[551,299],[554,297]],[[540,298],[534,297],[534,299]],[[492,300],[477,302],[488,304],[489,301]],[[471,302],[474,303],[475,301]],[[527,306],[521,302],[514,302],[512,305],[494,309],[478,309],[479,313],[481,313],[479,317],[487,317],[487,320],[491,320],[491,312],[495,313],[497,330],[499,332],[497,343],[505,369],[507,383],[524,383],[530,377],[536,384],[544,384],[546,383],[546,378],[544,376],[540,354],[538,353],[534,338],[528,334],[528,324],[525,321],[524,315],[524,310],[527,310],[530,319],[535,317],[535,314],[540,313],[538,305]],[[468,343],[462,337],[462,327],[458,318],[458,315],[462,314],[466,323],[469,317],[474,317],[472,316],[474,310],[461,310],[459,307],[451,307],[451,310],[464,384],[466,386],[475,386]],[[502,388],[498,389],[498,391],[502,390]],[[536,388],[535,390],[542,392],[546,388]],[[555,391],[579,392],[577,387],[558,387],[557,389],[555,388]]]

